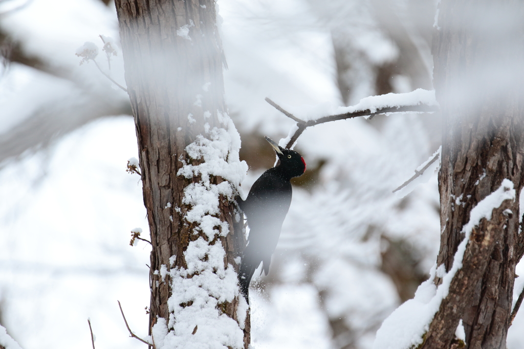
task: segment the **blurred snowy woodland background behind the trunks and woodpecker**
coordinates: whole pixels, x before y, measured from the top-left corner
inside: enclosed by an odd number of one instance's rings
[[[264,101],[354,105],[369,95],[431,90],[435,4],[409,0],[220,0],[226,99],[248,162],[247,190],[274,162],[263,136],[293,122]],[[149,247],[114,4],[0,2],[0,324],[25,349],[132,348],[147,334]],[[300,115],[297,115],[300,117]],[[373,346],[381,322],[413,297],[439,246],[436,173],[392,194],[440,146],[431,114],[377,116],[307,129],[308,163],[293,191],[270,274],[252,282],[252,345]],[[517,274],[524,275],[519,265]],[[518,278],[516,290],[524,286]],[[524,347],[522,312],[508,348]]]

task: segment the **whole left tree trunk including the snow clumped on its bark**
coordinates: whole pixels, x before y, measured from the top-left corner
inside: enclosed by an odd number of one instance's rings
[[[115,5],[151,234],[149,331],[157,349],[247,347],[233,203],[247,165],[224,103],[215,2]]]

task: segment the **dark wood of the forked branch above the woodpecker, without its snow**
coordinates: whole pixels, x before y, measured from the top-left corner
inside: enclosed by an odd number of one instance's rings
[[[379,114],[386,114],[386,113],[408,113],[408,112],[415,112],[415,113],[433,113],[438,111],[438,106],[434,105],[426,105],[426,104],[417,104],[417,105],[403,105],[400,107],[385,107],[376,110],[375,112],[371,112],[369,109],[353,112],[353,113],[345,113],[345,114],[339,114],[339,115],[330,115],[330,116],[323,116],[321,118],[315,119],[315,120],[309,120],[304,121],[299,119],[298,117],[294,116],[293,114],[287,112],[284,110],[281,106],[279,106],[277,103],[271,101],[269,98],[266,97],[266,102],[274,106],[279,112],[285,114],[287,117],[292,119],[293,121],[297,122],[298,129],[295,131],[293,136],[291,136],[291,139],[289,140],[288,144],[286,145],[286,149],[291,148],[291,146],[297,141],[298,137],[304,132],[304,130],[310,126],[315,126],[323,123],[327,123],[330,121],[337,121],[337,120],[344,120],[344,119],[350,119],[358,116],[375,116]]]

